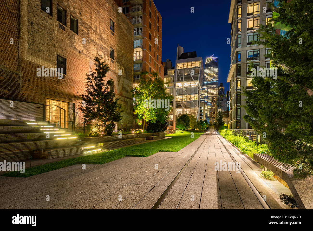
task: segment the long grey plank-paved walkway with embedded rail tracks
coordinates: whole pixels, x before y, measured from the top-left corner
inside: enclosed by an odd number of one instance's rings
[[[223,137],[206,133],[178,152],[0,177],[0,209],[151,209],[157,202],[158,209],[263,209],[241,173],[214,169],[216,162],[233,163],[222,142],[269,207],[286,208],[254,172],[258,164]]]

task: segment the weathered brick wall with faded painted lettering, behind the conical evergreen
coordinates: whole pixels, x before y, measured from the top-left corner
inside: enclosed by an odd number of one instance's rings
[[[113,0],[53,1],[52,16],[41,10],[40,0],[24,0],[20,2],[19,18],[18,1],[7,4],[15,8],[12,13],[7,12],[12,16],[1,15],[1,19],[13,19],[0,25],[4,27],[1,56],[6,55],[0,63],[1,67],[4,66],[0,78],[5,83],[4,86],[1,84],[0,97],[42,104],[46,104],[48,98],[78,106],[80,94],[85,91],[85,75],[94,68],[93,57],[100,54],[110,66],[107,78],[115,81],[115,93],[124,111],[122,123],[132,124],[133,26],[123,13],[118,13]],[[57,4],[66,10],[65,31],[59,28]],[[1,12],[5,12],[6,6],[0,7],[3,8]],[[70,30],[70,15],[78,19],[78,35]],[[114,36],[110,31],[110,18],[115,21]],[[9,38],[13,36],[17,41],[14,40],[14,46],[9,46]],[[110,47],[115,50],[114,63],[110,62]],[[57,55],[66,58],[65,78],[37,77],[37,68],[57,67]],[[8,74],[8,68],[16,74]],[[119,69],[123,71],[122,76],[118,75]],[[82,121],[81,114],[76,121]]]

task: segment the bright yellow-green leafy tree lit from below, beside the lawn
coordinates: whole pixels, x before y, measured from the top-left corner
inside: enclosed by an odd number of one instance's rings
[[[149,74],[151,74],[151,77]],[[143,128],[146,127],[146,122],[155,123],[159,121],[164,123],[172,108],[167,102],[168,100],[171,102],[173,97],[166,94],[164,82],[158,77],[158,73],[141,72],[140,75],[140,81],[136,88],[133,89],[133,97],[135,98],[134,114],[140,120],[139,124],[143,124]],[[145,75],[145,78],[142,78],[143,75]],[[150,99],[151,102],[153,100],[163,100],[164,104],[157,108],[157,105],[147,104]]]

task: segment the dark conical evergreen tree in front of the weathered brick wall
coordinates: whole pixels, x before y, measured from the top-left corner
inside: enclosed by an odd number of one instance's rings
[[[95,70],[86,74],[86,93],[82,97],[82,111],[87,125],[91,126],[92,132],[112,133],[114,121],[120,121],[121,105],[118,103],[115,93],[110,91],[114,81],[109,79],[105,82],[106,74],[110,67],[101,56],[95,56]]]

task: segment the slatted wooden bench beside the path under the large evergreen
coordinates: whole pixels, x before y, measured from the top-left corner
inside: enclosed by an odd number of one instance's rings
[[[267,154],[254,153],[253,158],[286,181],[300,209],[313,209],[313,176],[305,180],[295,178],[295,167],[280,163]]]

